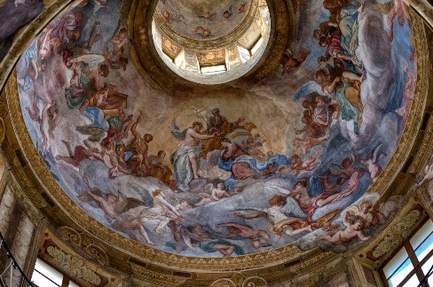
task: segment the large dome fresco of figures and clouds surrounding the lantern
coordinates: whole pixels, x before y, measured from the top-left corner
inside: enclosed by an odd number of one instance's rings
[[[200,96],[141,77],[125,3],[76,2],[17,66],[28,132],[67,195],[138,243],[195,257],[356,248],[396,211],[399,198],[373,211],[380,196],[369,189],[398,147],[417,80],[405,5],[377,2],[297,1],[302,23],[276,73]],[[184,15],[169,21],[191,35],[243,17],[239,1],[182,3],[157,9]]]

